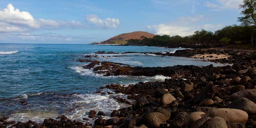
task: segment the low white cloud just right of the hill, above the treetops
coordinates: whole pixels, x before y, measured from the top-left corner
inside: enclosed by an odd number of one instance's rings
[[[148,26],[148,31],[156,35],[188,36],[194,33],[195,28],[159,24]]]

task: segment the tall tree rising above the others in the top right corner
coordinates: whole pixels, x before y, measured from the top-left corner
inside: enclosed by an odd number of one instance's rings
[[[238,17],[238,21],[242,22],[243,25],[256,26],[256,1],[255,0],[244,0],[243,4],[239,5],[239,9],[242,9],[241,14],[243,17]],[[253,43],[253,34],[252,34]]]

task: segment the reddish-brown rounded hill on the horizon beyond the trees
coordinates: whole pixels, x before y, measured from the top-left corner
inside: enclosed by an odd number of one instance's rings
[[[156,36],[155,34],[151,34],[148,32],[143,31],[136,31],[136,32],[130,32],[130,33],[123,33],[117,36],[114,36],[108,40],[102,41],[101,44],[109,44],[111,41],[126,41],[129,39],[140,39],[141,36],[145,36],[147,38],[152,38],[153,36]]]

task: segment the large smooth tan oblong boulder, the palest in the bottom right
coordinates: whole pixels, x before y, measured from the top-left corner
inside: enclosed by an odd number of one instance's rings
[[[248,114],[245,111],[233,108],[213,109],[210,111],[209,115],[210,117],[220,116],[225,119],[227,123],[244,123],[248,118]]]

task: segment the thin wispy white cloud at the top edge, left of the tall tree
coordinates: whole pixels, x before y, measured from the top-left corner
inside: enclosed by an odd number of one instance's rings
[[[218,11],[223,9],[237,9],[242,2],[243,0],[215,0],[215,3],[206,2],[204,5]]]

